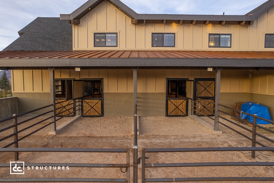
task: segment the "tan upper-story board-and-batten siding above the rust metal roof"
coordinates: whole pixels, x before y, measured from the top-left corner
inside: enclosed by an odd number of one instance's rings
[[[94,33],[117,32],[117,47],[94,47]],[[151,45],[152,33],[175,33],[175,47],[155,48]],[[132,24],[131,19],[110,4],[102,2],[81,18],[79,25],[73,25],[73,50],[216,50],[216,51],[258,51],[264,48],[265,34],[274,33],[274,7],[254,20],[253,25],[238,25],[229,21],[146,20]],[[209,34],[232,34],[231,48],[209,48]]]

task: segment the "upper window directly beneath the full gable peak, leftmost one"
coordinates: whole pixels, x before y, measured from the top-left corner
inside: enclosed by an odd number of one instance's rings
[[[94,33],[94,47],[117,47],[117,33]]]

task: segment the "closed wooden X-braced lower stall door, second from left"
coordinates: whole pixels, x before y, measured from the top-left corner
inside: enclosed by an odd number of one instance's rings
[[[82,116],[102,117],[103,102],[101,98],[83,98],[82,99]]]

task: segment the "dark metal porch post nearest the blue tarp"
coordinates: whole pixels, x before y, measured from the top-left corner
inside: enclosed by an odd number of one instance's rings
[[[220,106],[220,85],[221,85],[221,70],[216,69],[216,78],[215,78],[215,117],[214,117],[214,131],[219,131],[219,109]]]

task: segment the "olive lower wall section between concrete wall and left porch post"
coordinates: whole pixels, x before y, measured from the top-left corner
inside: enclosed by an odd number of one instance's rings
[[[13,96],[17,97],[18,114],[50,105],[50,93],[13,93]],[[39,115],[49,111],[49,109],[33,112],[32,115]]]

